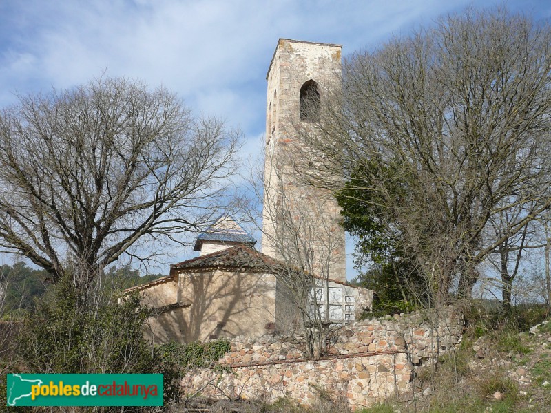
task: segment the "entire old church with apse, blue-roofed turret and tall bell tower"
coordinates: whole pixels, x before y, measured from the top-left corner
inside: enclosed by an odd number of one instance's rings
[[[331,323],[353,321],[371,308],[373,292],[346,283],[337,202],[325,185],[309,183],[308,171],[299,170],[305,161],[300,153],[308,148],[298,131],[317,133],[324,96],[340,85],[340,47],[278,41],[267,74],[262,252],[238,222],[222,215],[198,235],[198,257],[171,265],[167,277],[125,290],[139,293],[152,309],[154,343],[301,328],[293,300],[300,294]],[[340,178],[327,172],[321,179]],[[293,274],[311,280],[306,292],[293,290],[300,285],[289,282]]]

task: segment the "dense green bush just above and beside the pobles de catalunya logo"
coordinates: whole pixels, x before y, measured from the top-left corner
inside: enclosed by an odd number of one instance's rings
[[[143,335],[149,311],[137,295],[92,300],[64,278],[25,320],[16,357],[28,373],[161,373],[165,403],[180,398],[177,369]],[[95,304],[92,304],[95,303]],[[99,303],[99,304],[98,304]]]

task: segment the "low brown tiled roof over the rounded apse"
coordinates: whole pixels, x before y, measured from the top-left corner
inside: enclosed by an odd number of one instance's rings
[[[171,270],[233,268],[242,271],[274,271],[283,264],[245,244],[172,264]]]

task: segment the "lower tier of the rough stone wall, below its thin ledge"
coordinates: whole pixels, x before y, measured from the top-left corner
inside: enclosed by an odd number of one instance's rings
[[[410,379],[406,354],[394,353],[239,367],[233,374],[203,369],[189,374],[184,386],[203,396],[270,401],[289,397],[304,404],[329,392],[345,396],[353,407],[363,407],[397,389],[410,390]]]

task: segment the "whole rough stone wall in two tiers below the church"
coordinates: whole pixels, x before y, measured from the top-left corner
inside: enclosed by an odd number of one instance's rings
[[[320,390],[344,396],[353,409],[368,407],[396,392],[411,391],[416,366],[455,348],[462,317],[396,316],[346,324],[335,331],[329,354],[304,359],[300,346],[278,336],[256,341],[237,337],[219,363],[231,372],[198,369],[183,380],[185,393],[217,398],[289,397],[311,404]]]

